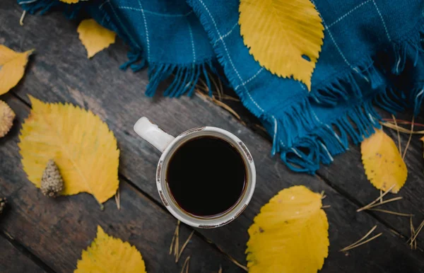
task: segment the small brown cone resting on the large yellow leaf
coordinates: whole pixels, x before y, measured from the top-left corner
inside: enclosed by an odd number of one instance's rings
[[[62,180],[56,163],[52,159],[47,162],[47,167],[41,178],[41,192],[47,197],[57,197],[64,189],[64,180]]]

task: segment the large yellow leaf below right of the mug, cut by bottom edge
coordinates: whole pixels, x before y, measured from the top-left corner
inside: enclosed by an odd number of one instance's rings
[[[281,190],[249,228],[249,273],[312,273],[329,254],[329,223],[322,195],[304,186]]]

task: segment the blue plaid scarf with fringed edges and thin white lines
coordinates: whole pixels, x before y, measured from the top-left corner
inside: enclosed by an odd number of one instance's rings
[[[273,138],[289,168],[314,173],[320,163],[380,127],[375,106],[391,113],[424,98],[423,0],[313,0],[324,45],[312,91],[271,74],[254,61],[240,35],[238,0],[18,0],[26,11],[81,11],[130,47],[122,69],[148,65],[146,94],[174,75],[164,95],[192,95],[207,70],[223,67],[230,86]],[[281,60],[284,62],[284,60]]]

